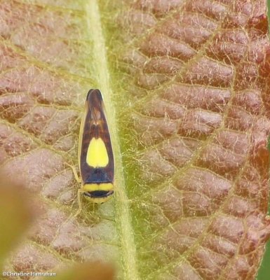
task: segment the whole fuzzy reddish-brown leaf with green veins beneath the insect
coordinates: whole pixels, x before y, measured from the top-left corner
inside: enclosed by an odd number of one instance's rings
[[[1,1],[1,166],[45,213],[8,267],[103,260],[119,279],[255,279],[270,234],[265,9]],[[116,194],[83,202],[74,218],[79,186],[65,162],[77,165],[93,87],[104,94]]]

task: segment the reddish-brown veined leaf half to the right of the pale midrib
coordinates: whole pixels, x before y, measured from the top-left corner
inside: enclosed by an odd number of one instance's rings
[[[255,279],[270,236],[265,9],[138,0],[120,21],[144,279]]]

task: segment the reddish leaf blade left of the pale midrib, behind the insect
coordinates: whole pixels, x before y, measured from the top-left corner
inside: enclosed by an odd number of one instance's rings
[[[22,2],[0,3],[0,164],[5,176],[41,197],[43,215],[6,269],[55,272],[73,262],[112,261],[112,204],[111,211],[83,204],[82,224],[70,219],[79,186],[65,162],[76,162],[93,80],[86,11],[72,1]]]

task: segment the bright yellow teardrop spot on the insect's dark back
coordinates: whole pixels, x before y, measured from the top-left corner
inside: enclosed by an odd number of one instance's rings
[[[89,143],[86,162],[90,167],[106,167],[109,163],[104,141],[101,138],[95,139],[93,137]]]

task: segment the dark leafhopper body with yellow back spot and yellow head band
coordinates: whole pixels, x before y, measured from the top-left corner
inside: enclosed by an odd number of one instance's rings
[[[81,192],[94,203],[114,193],[114,154],[100,90],[89,90],[79,137]]]

